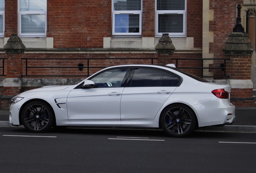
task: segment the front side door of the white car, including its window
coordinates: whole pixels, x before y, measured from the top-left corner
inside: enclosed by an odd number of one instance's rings
[[[120,121],[120,101],[124,87],[122,82],[128,68],[102,72],[90,78],[97,88],[73,89],[68,95],[68,120]]]

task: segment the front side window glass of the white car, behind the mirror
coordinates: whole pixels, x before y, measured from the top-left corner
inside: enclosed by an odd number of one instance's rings
[[[121,87],[124,76],[128,68],[114,69],[103,72],[91,80],[95,82],[97,87]]]

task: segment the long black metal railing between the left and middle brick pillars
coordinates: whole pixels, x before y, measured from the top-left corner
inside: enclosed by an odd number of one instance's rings
[[[90,69],[92,68],[106,68],[108,66],[93,66],[93,64],[91,64],[91,60],[149,60],[151,61],[151,64],[153,64],[153,60],[157,60],[157,58],[21,58],[22,60],[25,60],[25,74],[23,74],[22,76],[29,76],[29,77],[42,77],[42,76],[48,76],[48,77],[86,77],[90,75]],[[76,66],[32,66],[29,65],[29,61],[30,60],[52,60],[52,61],[67,61],[69,62],[70,60],[82,60],[85,61],[86,63],[77,63]],[[100,63],[99,63],[100,64]],[[85,66],[84,66],[85,65]],[[113,63],[113,65],[117,65],[115,62]],[[57,68],[65,68],[65,69],[72,69],[72,68],[78,68],[80,71],[84,68],[87,69],[86,74],[83,75],[49,75],[49,74],[43,74],[43,75],[30,75],[29,73],[29,69],[39,69],[39,68],[45,68],[45,69],[57,69]]]

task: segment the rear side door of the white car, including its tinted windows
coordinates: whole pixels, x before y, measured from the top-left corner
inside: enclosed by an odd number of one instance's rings
[[[121,120],[154,119],[180,78],[154,68],[135,68],[121,100]]]

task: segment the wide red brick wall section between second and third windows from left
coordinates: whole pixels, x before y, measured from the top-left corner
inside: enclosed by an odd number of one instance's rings
[[[47,1],[47,37],[54,37],[55,48],[100,48],[109,36],[111,0]]]

